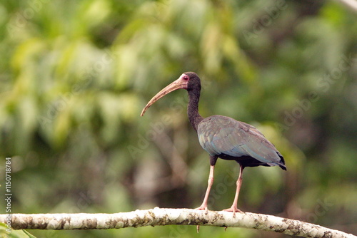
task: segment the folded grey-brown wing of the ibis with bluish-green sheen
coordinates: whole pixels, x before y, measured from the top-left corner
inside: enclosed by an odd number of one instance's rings
[[[198,140],[210,155],[251,156],[268,165],[281,165],[280,153],[253,125],[213,115],[198,125]]]

